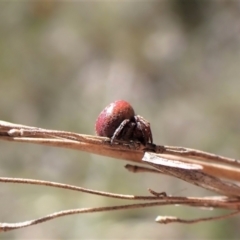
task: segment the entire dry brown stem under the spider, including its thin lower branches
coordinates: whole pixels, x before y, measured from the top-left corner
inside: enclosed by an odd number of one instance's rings
[[[152,194],[151,196],[134,196],[101,192],[68,184],[48,181],[20,178],[0,178],[0,182],[5,183],[45,185],[50,187],[81,191],[94,195],[101,195],[104,197],[148,201],[144,203],[135,203],[121,206],[60,211],[39,219],[22,223],[2,223],[0,224],[0,231],[8,231],[20,227],[26,227],[57,217],[77,213],[114,211],[121,209],[134,209],[175,204],[192,207],[224,208],[237,211],[219,217],[202,219],[199,218],[195,220],[183,220],[176,217],[159,217],[157,221],[161,223],[195,223],[199,221],[226,218],[239,213],[240,187],[236,184],[225,182],[221,179],[227,178],[229,180],[240,181],[240,161],[236,159],[222,157],[219,155],[183,147],[172,147],[155,144],[147,144],[146,146],[143,146],[139,142],[124,141],[114,141],[112,144],[108,138],[83,135],[66,131],[47,130],[13,124],[5,121],[0,121],[0,139],[5,141],[35,143],[54,147],[71,148],[142,164],[147,163],[153,168],[133,166],[129,164],[126,165],[126,168],[132,172],[167,174],[224,195],[205,198],[173,197],[167,196],[166,193],[157,193],[153,190],[149,190]]]

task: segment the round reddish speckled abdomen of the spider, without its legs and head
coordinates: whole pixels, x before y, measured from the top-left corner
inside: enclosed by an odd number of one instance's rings
[[[115,101],[99,114],[95,124],[96,133],[98,136],[111,138],[124,120],[131,120],[134,116],[135,112],[128,102]]]

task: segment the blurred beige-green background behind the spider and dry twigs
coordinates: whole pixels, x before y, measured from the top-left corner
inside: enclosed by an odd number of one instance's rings
[[[0,119],[95,134],[100,111],[129,101],[154,142],[240,158],[239,1],[2,1]],[[133,174],[127,162],[74,150],[0,143],[0,176],[113,193],[147,189],[209,196],[177,179]],[[1,183],[0,222],[54,211],[125,204],[40,186]],[[63,217],[1,239],[238,239],[240,218],[195,225],[154,222],[221,210],[155,207]]]

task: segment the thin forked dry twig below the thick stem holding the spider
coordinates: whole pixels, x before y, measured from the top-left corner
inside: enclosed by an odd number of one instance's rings
[[[50,221],[55,218],[73,215],[73,214],[82,214],[82,213],[94,213],[94,212],[106,212],[106,211],[116,211],[116,210],[127,210],[127,209],[136,209],[136,208],[146,208],[146,207],[154,207],[154,206],[166,206],[166,205],[187,205],[192,207],[204,207],[204,208],[224,208],[224,209],[232,209],[236,210],[240,208],[240,201],[238,198],[227,198],[227,197],[174,197],[167,196],[165,193],[156,194],[155,191],[150,190],[154,196],[134,196],[134,195],[123,195],[123,194],[113,194],[107,192],[101,192],[96,190],[91,190],[87,188],[81,188],[77,186],[72,186],[68,184],[61,184],[49,181],[41,181],[41,180],[32,180],[32,179],[22,179],[22,178],[0,178],[0,182],[5,183],[24,183],[24,184],[35,184],[35,185],[45,185],[49,187],[58,187],[64,188],[68,190],[80,191],[85,193],[90,193],[94,195],[101,195],[105,197],[119,198],[119,199],[128,199],[128,200],[145,200],[148,202],[143,203],[134,203],[134,204],[125,204],[118,206],[110,206],[110,207],[96,207],[96,208],[80,208],[80,209],[70,209],[65,211],[55,212],[49,215],[46,215],[41,218],[19,222],[19,223],[0,223],[0,232],[3,231],[11,231],[18,228],[28,227],[31,225],[39,224],[42,222]],[[151,200],[151,202],[149,202]],[[184,223],[193,223],[199,221],[209,221],[209,220],[217,220],[223,219],[235,214],[238,214],[239,211],[230,213],[227,215],[223,215],[220,217],[211,217],[205,219],[196,219],[196,220],[181,220],[179,218],[174,217],[158,217],[158,222],[160,223],[171,223],[171,222],[184,222]]]

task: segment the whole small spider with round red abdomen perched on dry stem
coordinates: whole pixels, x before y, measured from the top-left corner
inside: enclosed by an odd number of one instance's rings
[[[143,145],[152,143],[150,123],[139,115],[135,115],[132,106],[118,100],[109,104],[99,114],[96,125],[96,133],[99,136],[114,140],[140,141]]]

